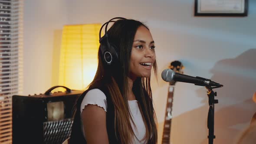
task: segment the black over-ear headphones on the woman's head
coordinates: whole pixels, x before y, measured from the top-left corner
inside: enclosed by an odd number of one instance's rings
[[[117,54],[117,52],[115,50],[116,46],[114,44],[112,44],[112,43],[109,43],[109,41],[108,41],[108,33],[107,33],[108,23],[116,22],[116,21],[113,21],[115,19],[127,20],[127,19],[125,19],[123,17],[112,18],[108,22],[104,23],[102,25],[102,27],[100,28],[100,30],[99,30],[100,50],[101,50],[101,53],[102,53],[103,61],[107,65],[111,65],[112,62],[114,62],[114,61],[116,61],[118,59],[118,54]],[[102,28],[104,26],[105,26],[105,35],[101,37]]]

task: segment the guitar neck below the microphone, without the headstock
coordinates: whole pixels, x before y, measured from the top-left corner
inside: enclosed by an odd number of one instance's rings
[[[165,117],[164,117],[164,131],[163,131],[163,137],[162,137],[162,144],[170,144],[173,94],[174,94],[174,85],[170,85],[168,96],[167,96]]]

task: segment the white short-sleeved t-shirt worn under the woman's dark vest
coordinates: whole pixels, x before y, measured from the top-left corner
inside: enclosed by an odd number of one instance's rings
[[[98,88],[91,89],[89,90],[89,92],[86,93],[81,104],[81,108],[80,108],[81,113],[82,113],[82,110],[85,108],[85,105],[88,105],[88,104],[97,105],[98,107],[103,108],[107,112],[108,105],[107,105],[106,95]],[[133,144],[144,144],[145,141],[141,141],[141,140],[144,138],[146,134],[146,128],[141,116],[141,111],[139,110],[139,107],[138,107],[138,101],[137,100],[128,101],[128,104],[129,104],[129,109],[131,111],[131,116],[137,128],[137,131],[132,123],[131,123],[131,127],[135,133],[135,136],[138,138],[138,140],[140,140],[138,141],[135,137]],[[85,137],[85,134],[84,134],[84,137]]]

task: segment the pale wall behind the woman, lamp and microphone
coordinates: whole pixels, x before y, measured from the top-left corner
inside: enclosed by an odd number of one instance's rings
[[[59,35],[64,24],[104,23],[115,16],[141,20],[156,43],[158,83],[152,83],[161,142],[168,83],[161,72],[180,60],[184,74],[222,83],[215,91],[216,144],[231,144],[248,126],[256,104],[256,1],[246,17],[194,17],[194,0],[25,0],[24,93],[56,84]],[[205,88],[177,82],[172,144],[207,144]]]

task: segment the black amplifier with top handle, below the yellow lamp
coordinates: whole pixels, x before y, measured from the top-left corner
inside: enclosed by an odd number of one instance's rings
[[[54,92],[63,87],[66,92]],[[54,86],[40,95],[13,95],[13,144],[62,144],[71,133],[74,105],[83,91]]]

